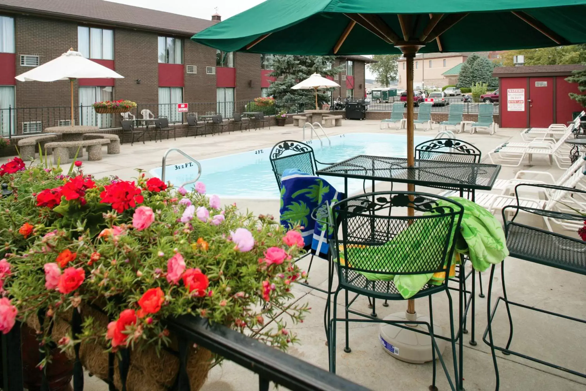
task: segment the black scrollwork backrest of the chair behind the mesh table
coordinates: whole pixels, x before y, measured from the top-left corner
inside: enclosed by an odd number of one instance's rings
[[[415,158],[461,163],[480,163],[482,152],[457,138],[435,138],[415,145]]]

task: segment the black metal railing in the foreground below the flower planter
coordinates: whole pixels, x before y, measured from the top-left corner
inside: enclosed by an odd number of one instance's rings
[[[22,391],[21,329],[16,324],[9,334],[2,335],[2,389]],[[223,358],[258,374],[258,389],[268,391],[275,383],[291,391],[368,391],[349,380],[327,372],[276,348],[262,344],[240,332],[222,325],[210,325],[207,319],[183,315],[168,322],[168,328],[180,345],[197,344]],[[125,355],[128,356],[128,355]],[[183,357],[183,358],[182,358]],[[184,355],[179,355],[185,361]],[[130,362],[126,365],[131,365]],[[185,362],[180,363],[178,381],[173,391],[189,391],[185,381]],[[122,368],[121,368],[122,372]]]

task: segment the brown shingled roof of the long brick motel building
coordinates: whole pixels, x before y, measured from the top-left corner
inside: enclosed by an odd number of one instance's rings
[[[0,10],[186,36],[192,36],[216,23],[211,19],[191,18],[103,0],[0,0]]]

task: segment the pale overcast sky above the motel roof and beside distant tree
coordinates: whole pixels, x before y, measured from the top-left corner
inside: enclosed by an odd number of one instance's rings
[[[211,19],[217,12],[222,19],[230,18],[245,11],[264,0],[108,0],[116,3],[134,5],[143,8],[158,9],[159,11],[180,13],[194,18]],[[366,71],[366,78],[373,79],[372,74]]]

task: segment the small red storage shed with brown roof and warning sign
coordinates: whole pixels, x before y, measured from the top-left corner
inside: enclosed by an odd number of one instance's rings
[[[492,76],[499,78],[499,127],[548,127],[571,121],[582,106],[568,93],[580,93],[577,83],[565,78],[584,65],[536,65],[497,67]]]

